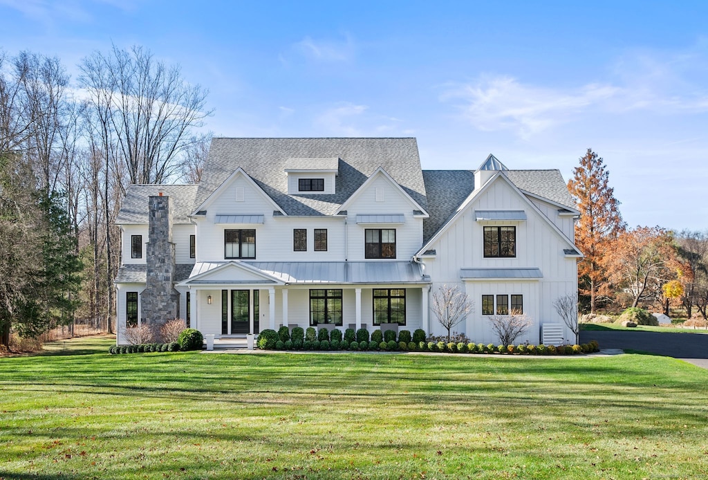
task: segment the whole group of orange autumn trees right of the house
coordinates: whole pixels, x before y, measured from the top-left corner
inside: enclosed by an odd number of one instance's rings
[[[628,228],[609,183],[605,161],[592,149],[568,182],[581,217],[576,245],[581,309],[681,307],[708,320],[708,231]]]

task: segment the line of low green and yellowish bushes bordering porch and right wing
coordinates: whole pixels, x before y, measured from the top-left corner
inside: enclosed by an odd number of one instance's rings
[[[576,355],[579,353],[593,353],[600,350],[597,341],[583,343],[582,345],[531,345],[521,343],[519,345],[484,345],[484,343],[474,343],[464,334],[455,333],[455,341],[447,341],[447,336],[428,337],[426,333],[418,329],[411,335],[410,331],[401,330],[396,338],[393,331],[382,333],[375,330],[369,336],[369,332],[364,328],[354,331],[347,328],[344,334],[340,330],[328,331],[320,328],[319,332],[314,328],[307,328],[304,333],[300,327],[292,329],[290,339],[285,338],[275,330],[266,329],[258,336],[258,348],[263,350],[350,350],[350,351],[382,351],[382,352],[440,352],[440,353],[494,353],[506,355]],[[422,340],[421,340],[422,338]],[[417,340],[417,341],[416,341]]]

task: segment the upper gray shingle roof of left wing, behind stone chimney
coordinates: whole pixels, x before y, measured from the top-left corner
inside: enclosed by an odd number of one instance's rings
[[[197,195],[197,185],[130,185],[125,192],[115,223],[147,224],[148,198],[160,192],[172,199],[173,222],[188,224],[188,215],[192,213],[194,198]]]

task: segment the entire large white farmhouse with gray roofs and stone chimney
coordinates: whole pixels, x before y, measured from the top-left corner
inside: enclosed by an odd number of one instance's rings
[[[573,205],[557,170],[421,170],[413,138],[215,138],[198,185],[132,185],[118,215],[118,343],[179,316],[217,339],[263,328],[423,328],[457,285],[457,328],[496,343],[491,315],[539,343],[577,291]],[[573,338],[571,332],[565,338]]]

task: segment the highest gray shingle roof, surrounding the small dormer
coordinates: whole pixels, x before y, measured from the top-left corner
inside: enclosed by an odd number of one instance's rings
[[[336,193],[287,195],[290,159],[338,158]],[[288,215],[333,215],[379,166],[411,198],[427,207],[414,138],[215,138],[195,208],[241,167]]]

